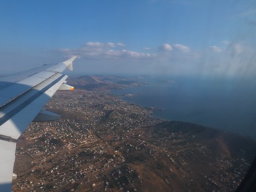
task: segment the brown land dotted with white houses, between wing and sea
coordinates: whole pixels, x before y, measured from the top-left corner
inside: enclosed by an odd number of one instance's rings
[[[253,141],[152,117],[109,92],[57,92],[46,109],[62,118],[20,137],[13,191],[234,191],[253,158]]]

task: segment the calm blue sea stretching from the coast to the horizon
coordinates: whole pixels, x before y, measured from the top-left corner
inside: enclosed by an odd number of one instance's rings
[[[256,139],[253,77],[144,76],[146,84],[114,90],[122,100],[154,107],[152,115],[186,121]]]

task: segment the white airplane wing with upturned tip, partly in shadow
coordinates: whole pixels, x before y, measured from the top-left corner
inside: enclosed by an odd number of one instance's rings
[[[61,73],[75,58],[0,78],[0,191],[12,189],[16,141],[30,122],[59,119],[42,108],[57,90],[73,90]]]

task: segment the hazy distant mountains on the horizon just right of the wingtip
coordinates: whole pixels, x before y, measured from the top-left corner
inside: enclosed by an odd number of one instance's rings
[[[78,78],[69,77],[67,81],[75,88],[106,91],[146,84],[141,79],[141,77],[118,77],[113,75],[84,75]]]

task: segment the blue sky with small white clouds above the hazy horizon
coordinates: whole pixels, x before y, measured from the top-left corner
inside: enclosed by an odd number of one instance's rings
[[[254,0],[3,0],[1,74],[256,75]]]

